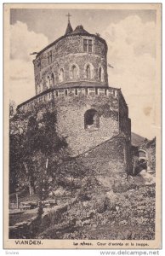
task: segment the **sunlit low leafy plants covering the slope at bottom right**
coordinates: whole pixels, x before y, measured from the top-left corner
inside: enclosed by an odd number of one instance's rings
[[[44,231],[44,238],[151,240],[155,237],[154,186],[142,186],[104,193],[93,190],[56,219],[56,225]],[[45,227],[46,228],[46,227]]]

